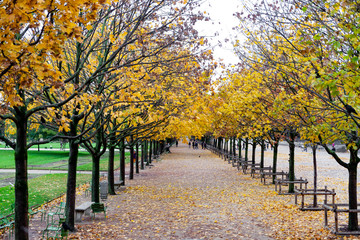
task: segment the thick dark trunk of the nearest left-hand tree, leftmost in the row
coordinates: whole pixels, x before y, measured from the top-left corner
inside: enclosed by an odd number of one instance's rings
[[[29,239],[29,190],[27,177],[27,118],[25,107],[17,109],[15,147],[15,239]]]

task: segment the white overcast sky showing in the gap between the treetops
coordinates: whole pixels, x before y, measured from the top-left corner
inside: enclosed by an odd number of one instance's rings
[[[232,40],[236,32],[232,30],[238,25],[238,20],[233,16],[235,12],[241,11],[240,0],[204,0],[201,11],[206,11],[211,21],[199,22],[195,25],[200,35],[206,36],[211,40],[214,47],[215,58],[223,59],[226,64],[235,64],[238,58],[232,50]],[[216,35],[218,32],[218,36]],[[225,39],[230,41],[225,43]],[[222,42],[222,47],[216,46],[218,41]]]

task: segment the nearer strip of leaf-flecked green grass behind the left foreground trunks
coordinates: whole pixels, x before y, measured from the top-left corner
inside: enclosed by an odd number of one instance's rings
[[[78,174],[76,182],[82,185],[89,182],[91,175]],[[29,180],[29,207],[44,204],[66,192],[67,174],[47,174]],[[0,188],[0,213],[5,216],[12,213],[15,201],[14,187]]]

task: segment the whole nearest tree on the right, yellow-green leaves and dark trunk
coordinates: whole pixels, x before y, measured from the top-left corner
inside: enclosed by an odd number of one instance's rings
[[[255,21],[258,28],[245,30],[258,46],[255,51],[252,49],[255,57],[251,60],[273,69],[281,76],[278,80],[291,92],[295,90],[296,95],[305,96],[307,101],[297,100],[299,106],[302,105],[302,109],[298,108],[301,112],[296,113],[303,125],[299,128],[301,137],[323,145],[348,169],[350,209],[357,208],[359,118],[354,111],[348,111],[347,105],[355,106],[356,111],[359,103],[355,80],[358,26],[354,19],[358,9],[357,3],[348,1],[264,2],[257,5],[248,18]],[[347,145],[349,162],[340,161],[327,147],[335,140]],[[349,213],[348,229],[358,229],[356,213]]]

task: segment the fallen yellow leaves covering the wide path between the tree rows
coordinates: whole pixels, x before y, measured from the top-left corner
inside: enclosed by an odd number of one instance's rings
[[[108,218],[97,214],[71,238],[341,239],[324,228],[323,211],[300,211],[293,196],[278,195],[273,185],[210,152],[196,158],[197,151],[186,151],[176,149],[128,181],[124,192],[109,196]]]

